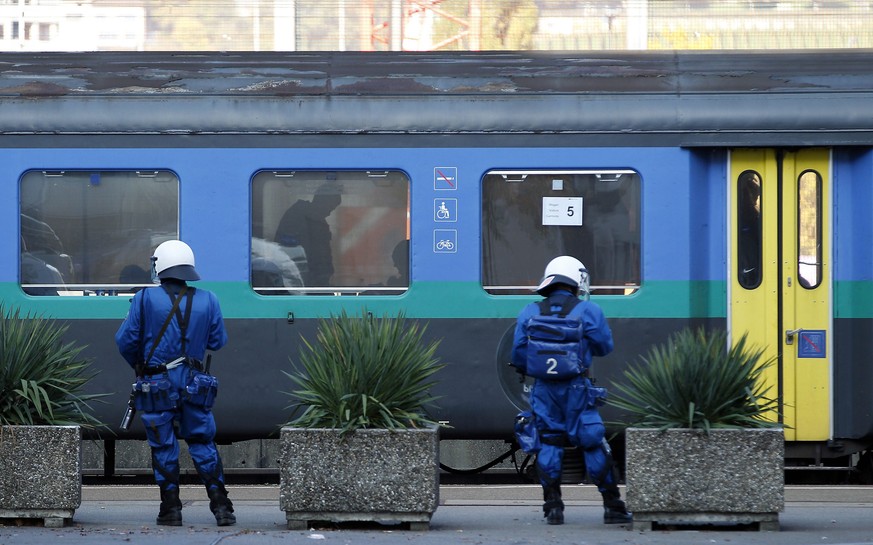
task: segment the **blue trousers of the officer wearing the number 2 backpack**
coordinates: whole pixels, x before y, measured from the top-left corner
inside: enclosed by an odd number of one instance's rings
[[[589,395],[591,381],[575,377],[566,381],[537,380],[530,396],[536,415],[542,450],[537,454],[537,469],[543,486],[560,482],[564,460],[564,438],[582,449],[585,467],[600,492],[614,487],[612,457],[604,447],[606,428]]]

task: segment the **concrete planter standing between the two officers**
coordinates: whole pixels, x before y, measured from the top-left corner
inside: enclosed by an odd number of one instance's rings
[[[437,428],[282,428],[279,503],[288,529],[311,521],[408,523],[427,530],[439,503]]]

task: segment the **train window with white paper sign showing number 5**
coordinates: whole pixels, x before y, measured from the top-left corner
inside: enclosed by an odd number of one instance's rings
[[[640,287],[640,189],[632,170],[486,173],[483,287],[530,294],[546,263],[567,254],[588,268],[592,293],[633,293]]]

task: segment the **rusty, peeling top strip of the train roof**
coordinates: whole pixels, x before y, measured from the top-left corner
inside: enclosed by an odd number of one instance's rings
[[[773,61],[778,58],[778,64]],[[360,96],[873,89],[869,52],[3,53],[0,95]]]

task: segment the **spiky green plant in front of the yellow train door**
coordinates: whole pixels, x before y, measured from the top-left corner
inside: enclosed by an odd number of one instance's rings
[[[684,329],[631,365],[610,403],[636,427],[778,427],[778,400],[761,381],[773,361],[763,354],[747,346],[746,335],[728,347],[723,330]]]

